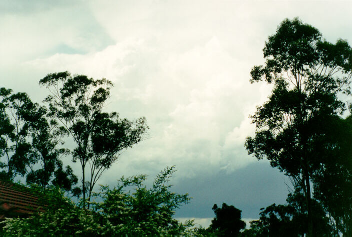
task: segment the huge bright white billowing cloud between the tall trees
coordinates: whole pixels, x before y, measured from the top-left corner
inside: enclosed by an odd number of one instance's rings
[[[244,138],[253,130],[247,125],[248,107],[266,91],[249,84],[248,74],[240,70],[248,66],[231,56],[216,36],[178,53],[166,52],[150,38],[129,38],[101,51],[57,53],[26,64],[106,77],[115,83],[107,108],[128,118],[147,118],[147,146],[123,154],[118,166],[123,160],[138,163],[136,170],[145,162],[158,168],[176,165],[192,177],[200,170],[232,171],[249,163],[243,159]],[[205,166],[196,166],[199,162]]]

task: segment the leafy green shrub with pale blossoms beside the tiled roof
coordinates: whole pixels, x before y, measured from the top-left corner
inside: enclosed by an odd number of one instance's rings
[[[166,168],[154,179],[151,188],[145,175],[121,178],[117,186],[101,186],[87,210],[63,197],[57,188],[42,195],[47,211],[27,219],[6,219],[5,235],[28,236],[189,236],[192,222],[181,224],[172,218],[174,210],[190,200],[176,194],[168,185],[174,168]],[[134,191],[128,187],[135,187]]]

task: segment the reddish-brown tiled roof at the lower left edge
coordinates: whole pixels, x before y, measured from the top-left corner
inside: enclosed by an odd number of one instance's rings
[[[29,188],[0,181],[0,219],[28,216],[37,210],[42,212],[42,206]]]

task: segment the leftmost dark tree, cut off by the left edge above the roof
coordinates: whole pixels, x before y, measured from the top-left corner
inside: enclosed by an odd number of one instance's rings
[[[7,180],[24,176],[34,162],[27,141],[28,123],[24,119],[33,103],[25,93],[11,93],[11,89],[0,88],[0,168],[7,170],[2,170],[0,177]]]

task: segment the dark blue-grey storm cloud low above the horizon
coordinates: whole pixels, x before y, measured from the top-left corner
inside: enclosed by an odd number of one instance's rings
[[[193,199],[176,211],[176,216],[208,218],[213,216],[211,208],[215,203],[227,203],[242,210],[243,218],[255,219],[260,208],[286,202],[285,180],[287,177],[267,162],[255,162],[231,173],[218,171],[213,175],[198,174],[193,179],[181,179],[173,190],[188,192]]]

